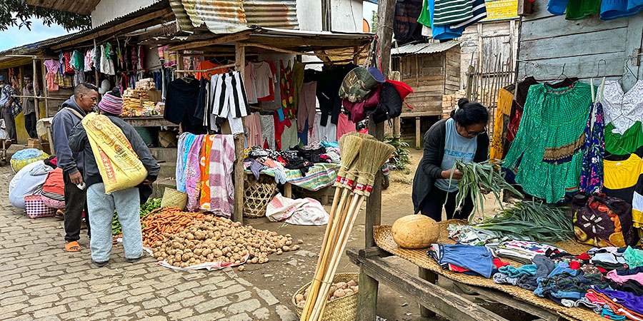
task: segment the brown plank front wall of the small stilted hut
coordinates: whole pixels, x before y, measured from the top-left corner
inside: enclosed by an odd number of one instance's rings
[[[404,100],[412,106],[402,108],[402,117],[431,116],[442,113],[446,52],[402,56],[398,66],[402,81],[413,88]]]

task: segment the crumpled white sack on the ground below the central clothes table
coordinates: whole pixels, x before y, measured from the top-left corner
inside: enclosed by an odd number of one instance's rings
[[[266,216],[272,222],[283,220],[296,225],[328,224],[329,214],[317,200],[312,198],[286,198],[280,193],[268,203]]]

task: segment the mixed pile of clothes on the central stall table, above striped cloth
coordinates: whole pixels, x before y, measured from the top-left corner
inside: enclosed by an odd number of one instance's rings
[[[286,183],[286,169],[299,170],[306,176],[316,163],[341,163],[339,144],[321,141],[281,152],[254,146],[246,148],[244,158],[244,168],[251,170],[257,180],[261,170],[270,168],[274,170],[276,182],[281,184]]]

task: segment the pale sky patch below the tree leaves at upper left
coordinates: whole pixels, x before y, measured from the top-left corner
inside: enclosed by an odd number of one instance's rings
[[[21,29],[14,26],[5,31],[0,31],[0,51],[11,49],[25,44],[43,41],[69,34],[63,27],[52,24],[51,27],[42,24],[41,19],[29,19],[31,21],[31,31],[23,26]],[[73,32],[73,31],[72,31]]]

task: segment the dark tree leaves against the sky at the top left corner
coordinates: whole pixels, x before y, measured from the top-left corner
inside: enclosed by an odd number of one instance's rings
[[[59,24],[67,31],[72,29],[89,29],[91,19],[89,16],[58,11],[41,6],[22,4],[22,0],[0,1],[0,31],[11,26],[26,27],[31,30],[31,18],[42,19],[46,26]]]

